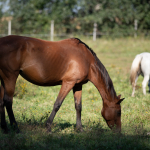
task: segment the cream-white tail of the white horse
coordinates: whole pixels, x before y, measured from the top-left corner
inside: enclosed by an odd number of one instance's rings
[[[130,71],[131,84],[135,84],[136,77],[141,73],[141,60],[142,60],[142,55],[136,55],[135,59],[132,62],[131,71]]]

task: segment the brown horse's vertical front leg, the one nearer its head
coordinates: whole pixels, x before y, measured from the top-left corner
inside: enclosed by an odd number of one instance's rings
[[[75,100],[75,109],[76,109],[76,130],[83,131],[81,123],[81,111],[82,111],[82,85],[75,86],[73,88],[74,100]]]

